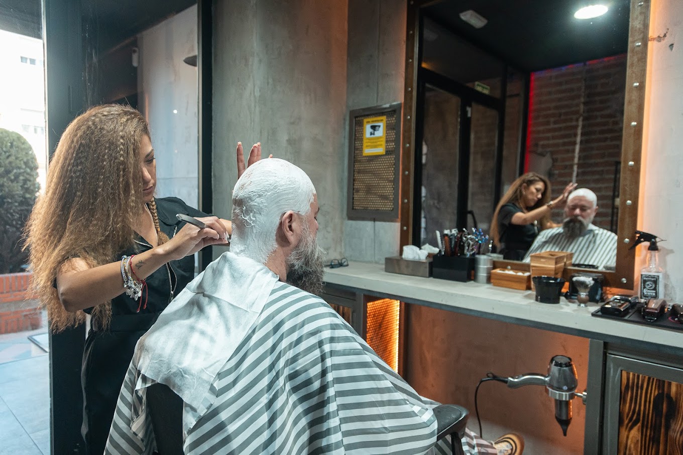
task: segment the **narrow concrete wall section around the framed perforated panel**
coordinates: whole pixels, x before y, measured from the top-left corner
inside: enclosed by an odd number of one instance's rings
[[[348,111],[403,101],[406,42],[406,2],[404,0],[348,0],[348,59],[346,62],[346,117],[344,148],[348,153]],[[399,253],[398,222],[346,220],[346,175],[342,220],[344,254],[353,261],[383,263],[386,256]]]

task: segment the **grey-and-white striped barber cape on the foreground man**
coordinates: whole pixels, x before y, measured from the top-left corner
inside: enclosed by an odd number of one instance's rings
[[[152,454],[145,387],[153,382],[131,364],[107,454]],[[430,403],[322,300],[278,283],[199,409],[185,405],[184,449],[193,455],[422,454],[436,442]],[[466,439],[466,453],[495,453],[488,444],[477,450],[475,441],[483,441],[470,434]],[[436,453],[447,453],[441,445]]]

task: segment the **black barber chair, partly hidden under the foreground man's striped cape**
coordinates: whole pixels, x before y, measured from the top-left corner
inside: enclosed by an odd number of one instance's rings
[[[182,398],[167,385],[156,383],[147,388],[147,404],[152,417],[152,429],[159,455],[183,455],[182,451]],[[451,435],[451,451],[463,455],[462,438],[469,411],[457,405],[439,405],[434,408],[436,440]]]

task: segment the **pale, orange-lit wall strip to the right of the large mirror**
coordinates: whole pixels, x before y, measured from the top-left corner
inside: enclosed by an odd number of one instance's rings
[[[665,267],[667,299],[680,302],[683,297],[683,2],[652,1],[648,49],[647,97],[639,226],[666,242],[660,244],[660,265]],[[640,248],[643,265],[645,250]]]

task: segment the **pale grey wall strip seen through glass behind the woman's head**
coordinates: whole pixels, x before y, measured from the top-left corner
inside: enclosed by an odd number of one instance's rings
[[[197,6],[138,35],[138,102],[152,130],[156,195],[198,203]]]

